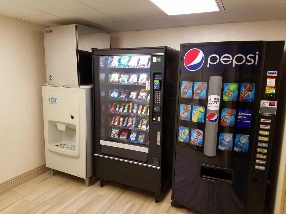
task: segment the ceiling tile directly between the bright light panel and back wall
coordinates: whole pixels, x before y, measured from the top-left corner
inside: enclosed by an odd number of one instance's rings
[[[196,25],[213,25],[227,22],[222,11],[174,15],[170,16],[170,18],[183,27]]]

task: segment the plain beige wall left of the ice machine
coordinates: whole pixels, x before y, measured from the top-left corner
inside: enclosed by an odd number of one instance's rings
[[[45,163],[43,29],[0,15],[0,183]]]

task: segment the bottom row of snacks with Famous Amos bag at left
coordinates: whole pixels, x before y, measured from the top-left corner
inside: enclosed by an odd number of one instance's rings
[[[111,138],[119,138],[121,140],[130,140],[130,141],[133,141],[134,143],[149,144],[148,134],[146,134],[144,132],[138,132],[138,131],[125,129],[120,133],[120,135],[118,135],[118,133],[119,133],[119,129],[113,128],[111,130],[110,137]]]

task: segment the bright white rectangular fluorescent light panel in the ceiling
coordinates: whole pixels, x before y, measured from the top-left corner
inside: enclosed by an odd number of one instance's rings
[[[150,0],[168,15],[219,11],[215,0]]]

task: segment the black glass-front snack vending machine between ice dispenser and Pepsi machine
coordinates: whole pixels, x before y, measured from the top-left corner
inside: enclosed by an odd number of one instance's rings
[[[172,177],[179,51],[92,49],[95,176],[155,193]],[[97,134],[98,133],[98,134]]]

